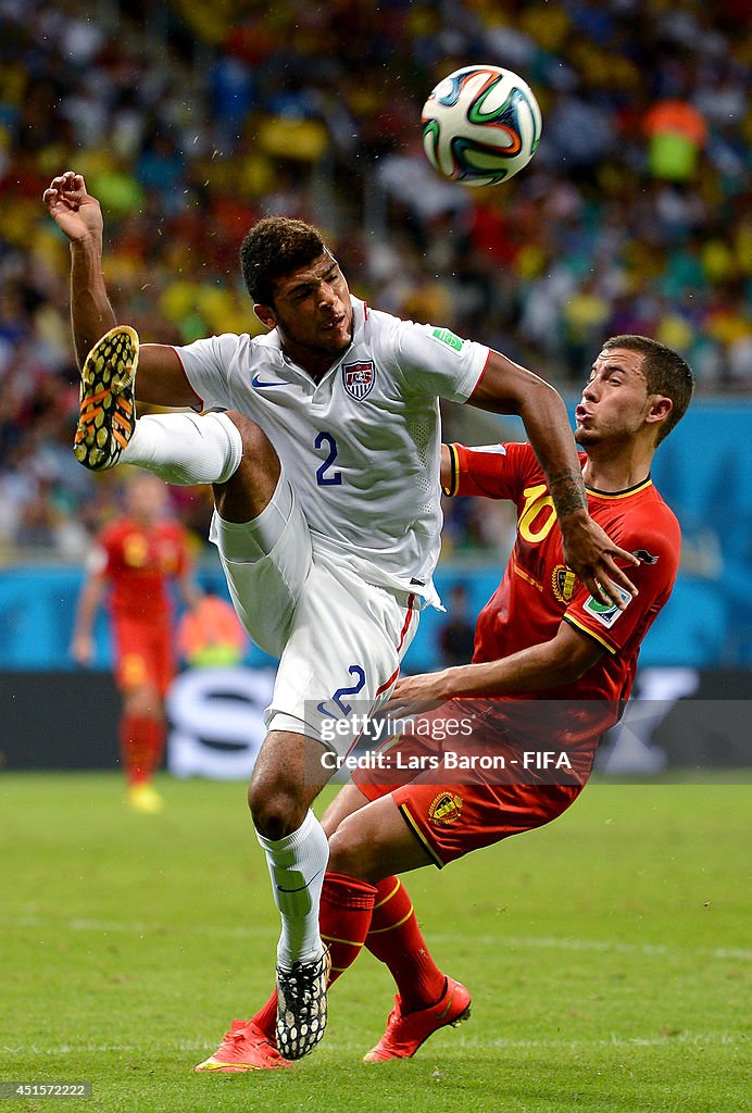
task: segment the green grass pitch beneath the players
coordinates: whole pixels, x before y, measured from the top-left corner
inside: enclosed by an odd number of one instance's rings
[[[0,1080],[89,1081],[68,1113],[740,1113],[743,784],[588,786],[551,826],[407,878],[461,1028],[369,1065],[392,1001],[363,954],[289,1072],[195,1075],[270,989],[276,912],[239,784],[0,779]]]

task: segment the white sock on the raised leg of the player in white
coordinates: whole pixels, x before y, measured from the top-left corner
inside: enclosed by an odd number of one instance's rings
[[[167,483],[226,483],[243,457],[243,437],[227,414],[147,414],[120,456]]]

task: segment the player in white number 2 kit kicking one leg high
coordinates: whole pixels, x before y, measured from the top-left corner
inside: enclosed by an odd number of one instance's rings
[[[438,602],[438,397],[523,417],[567,563],[596,597],[623,607],[619,588],[633,588],[615,559],[635,559],[587,514],[556,392],[482,344],[369,309],[310,226],[267,218],[246,237],[244,279],[266,336],[139,353],[132,329],[115,327],[101,211],[83,178],[55,178],[44,203],[71,246],[79,460],[212,483],[211,540],[236,609],[279,657],[249,805],[281,915],[277,1041],[298,1058],[326,1025],[318,905],[328,849],[310,810],[330,776],[321,721],[388,697],[420,609]],[[197,412],[136,422],[136,363],[140,401]],[[222,412],[198,413],[206,410]]]

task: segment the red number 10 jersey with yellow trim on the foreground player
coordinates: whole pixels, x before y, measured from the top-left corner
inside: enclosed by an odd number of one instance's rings
[[[551,641],[562,621],[594,638],[606,652],[580,680],[525,692],[522,699],[593,700],[620,706],[630,695],[640,643],[669,599],[676,579],[681,531],[649,477],[634,487],[587,487],[591,516],[641,563],[629,575],[639,590],[626,609],[604,605],[566,567],[556,511],[543,470],[528,444],[451,446],[449,494],[509,499],[517,506],[517,536],[504,578],[477,621],[474,661],[494,661]],[[580,454],[584,464],[586,456]],[[617,716],[616,716],[617,717]],[[611,725],[611,723],[607,723]]]

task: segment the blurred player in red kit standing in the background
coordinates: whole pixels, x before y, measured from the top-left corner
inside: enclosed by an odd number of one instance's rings
[[[169,581],[179,584],[189,607],[198,598],[186,532],[166,515],[166,492],[161,480],[147,473],[131,481],[126,515],[97,538],[71,642],[79,664],[90,664],[93,620],[109,588],[128,802],[145,812],[161,808],[161,797],[150,781],[165,749],[164,701],[175,674]]]

